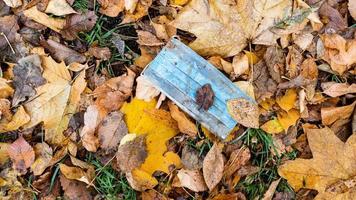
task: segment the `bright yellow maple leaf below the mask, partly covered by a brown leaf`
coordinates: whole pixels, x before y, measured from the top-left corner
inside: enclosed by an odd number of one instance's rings
[[[169,112],[157,110],[155,106],[155,100],[145,102],[135,98],[121,108],[121,111],[125,113],[129,133],[146,135],[147,158],[139,168],[132,171],[130,178],[133,178],[136,184],[148,185],[147,187],[154,187],[158,183],[152,177],[155,171],[168,174],[171,165],[181,167],[179,156],[173,152],[167,152],[166,146],[168,140],[179,133],[178,126]],[[142,189],[138,186],[136,188]]]

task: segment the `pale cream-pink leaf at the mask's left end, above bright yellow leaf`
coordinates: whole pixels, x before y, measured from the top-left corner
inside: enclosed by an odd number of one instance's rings
[[[137,77],[136,82],[136,98],[151,101],[159,95],[160,91],[144,76]]]

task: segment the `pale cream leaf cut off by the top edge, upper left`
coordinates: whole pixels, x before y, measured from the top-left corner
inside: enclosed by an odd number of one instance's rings
[[[76,13],[66,0],[49,0],[45,12],[56,16]]]

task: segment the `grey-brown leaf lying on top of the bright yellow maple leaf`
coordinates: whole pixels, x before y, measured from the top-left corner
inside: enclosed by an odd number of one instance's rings
[[[120,144],[116,153],[117,163],[120,170],[124,173],[129,173],[132,170],[141,166],[147,158],[146,137],[139,135],[132,141],[125,144]]]

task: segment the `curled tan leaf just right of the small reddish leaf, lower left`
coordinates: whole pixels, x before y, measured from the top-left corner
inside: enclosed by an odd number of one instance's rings
[[[52,160],[53,151],[46,143],[37,143],[34,147],[35,162],[31,165],[31,171],[35,176],[41,175],[44,170],[49,166]]]

